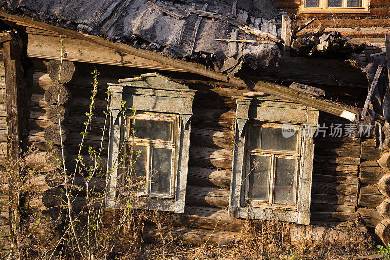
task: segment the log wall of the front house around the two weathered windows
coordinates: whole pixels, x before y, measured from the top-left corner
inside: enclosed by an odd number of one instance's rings
[[[29,141],[39,148],[37,158],[41,163],[45,163],[46,152],[49,150],[45,140],[45,129],[52,125],[46,115],[49,105],[44,98],[45,91],[53,85],[46,72],[47,63],[48,60],[35,59],[36,70],[31,98]],[[88,68],[99,66],[98,64],[76,64],[84,70],[79,69],[76,79],[67,85],[73,100],[67,105],[69,117],[64,121],[64,126],[69,130],[69,139],[65,147],[69,153],[67,167],[70,170],[74,169],[78,144],[81,141],[80,132],[85,128],[83,122],[87,120],[85,112],[88,109],[92,89]],[[117,66],[106,65],[98,67],[101,76],[98,78],[96,117],[92,120],[90,134],[86,136],[85,147],[98,148],[100,145],[101,128],[104,123],[103,111],[106,108],[104,100],[106,84],[117,82],[119,78],[145,73],[145,70],[134,68],[121,68],[120,73],[115,73],[116,70],[119,71],[117,68]],[[213,233],[209,240],[209,243],[218,243],[236,237],[244,222],[244,220],[228,218],[224,209],[229,202],[233,157],[232,124],[235,119],[236,103],[231,97],[242,95],[247,90],[204,83],[187,84],[197,92],[193,101],[194,115],[185,213],[173,214],[173,232],[189,243],[204,242],[224,214],[216,228],[217,232]],[[329,115],[321,113],[320,120],[322,118],[329,120]],[[332,117],[331,121],[347,123],[337,117]],[[104,148],[103,157],[106,158],[107,142]],[[381,154],[381,151],[375,150],[374,141],[331,136],[317,137],[314,151],[311,224],[335,226],[345,221],[356,220],[358,213],[367,216],[377,214],[376,204],[373,204],[371,198],[376,196],[379,203],[384,199],[380,194],[373,194],[378,180],[368,180],[373,178],[372,173],[376,173],[379,167],[377,164],[375,167],[372,166]],[[89,156],[86,150],[83,150],[82,154],[88,165]],[[81,175],[76,182],[82,184]],[[100,187],[102,188],[103,185]],[[367,194],[370,191],[371,198],[368,198]],[[80,194],[75,200],[74,207],[80,209],[85,202],[84,195]],[[370,227],[374,225],[367,221],[363,223]],[[144,235],[145,240],[156,238],[154,226],[147,225]]]

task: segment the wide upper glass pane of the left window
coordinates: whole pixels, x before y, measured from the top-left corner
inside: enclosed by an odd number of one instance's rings
[[[132,122],[130,122],[132,126]],[[171,122],[157,120],[142,120],[135,121],[135,136],[138,138],[170,140],[171,139]]]

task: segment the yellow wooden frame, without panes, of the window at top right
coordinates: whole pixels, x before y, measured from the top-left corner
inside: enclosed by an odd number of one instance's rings
[[[328,0],[319,0],[319,7],[305,7],[306,0],[301,0],[299,13],[301,14],[363,14],[370,13],[369,0],[362,0],[362,7],[346,7],[347,0],[343,1],[343,7],[328,7]]]

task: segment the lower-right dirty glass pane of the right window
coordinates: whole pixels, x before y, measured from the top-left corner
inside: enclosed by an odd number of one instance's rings
[[[276,158],[275,203],[295,204],[297,163],[296,159]]]

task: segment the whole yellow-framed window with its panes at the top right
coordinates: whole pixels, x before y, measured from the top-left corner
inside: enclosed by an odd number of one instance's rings
[[[369,0],[301,0],[304,13],[369,13]]]

